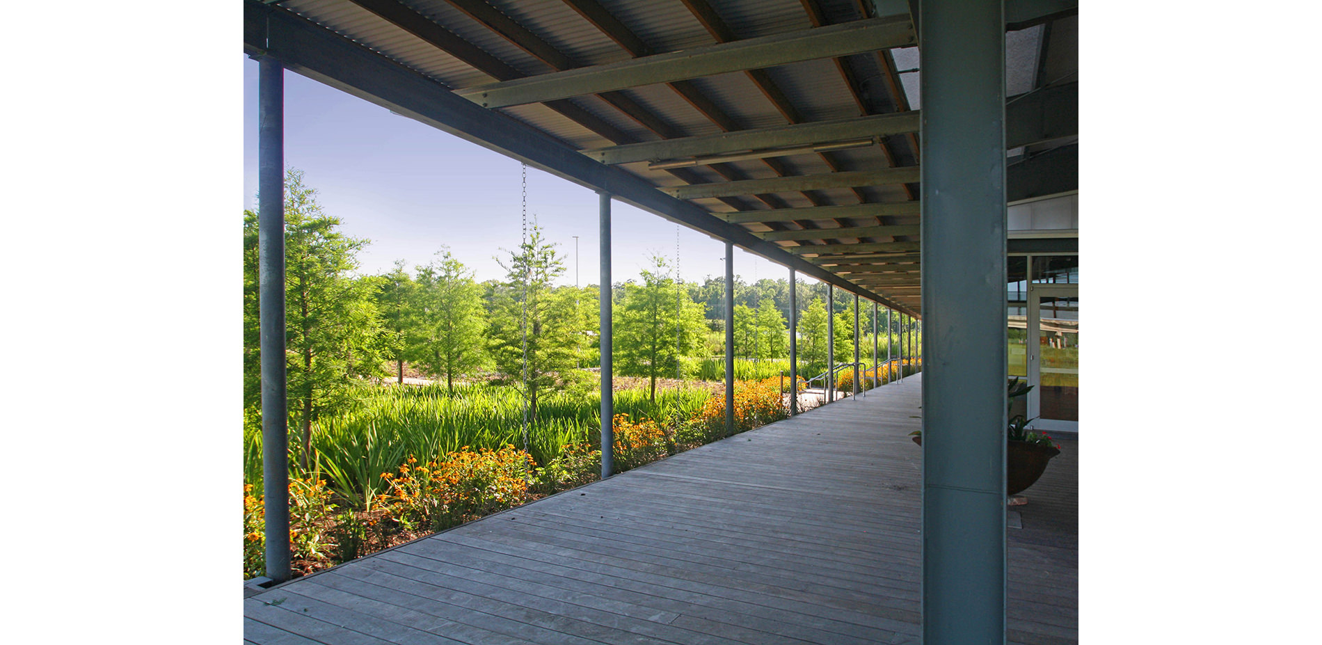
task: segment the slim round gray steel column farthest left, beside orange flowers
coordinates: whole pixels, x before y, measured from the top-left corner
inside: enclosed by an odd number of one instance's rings
[[[262,492],[266,576],[290,579],[290,434],[284,375],[284,67],[258,75],[258,325],[262,346]]]

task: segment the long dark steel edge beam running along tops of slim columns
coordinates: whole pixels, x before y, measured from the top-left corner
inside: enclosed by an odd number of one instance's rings
[[[245,0],[243,52],[249,56],[275,58],[293,73],[527,163],[580,186],[608,192],[619,201],[714,238],[728,239],[747,251],[793,267],[850,293],[916,315],[910,305],[858,287],[805,262],[775,242],[759,239],[743,226],[731,225],[711,217],[693,204],[668,197],[640,177],[592,161],[531,126],[455,96],[442,83],[288,9]]]

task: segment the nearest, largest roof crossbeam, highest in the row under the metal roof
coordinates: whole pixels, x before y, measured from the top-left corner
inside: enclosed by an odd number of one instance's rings
[[[456,90],[455,94],[483,107],[542,103],[642,85],[906,46],[912,45],[914,40],[914,25],[908,16],[870,19],[486,83]]]

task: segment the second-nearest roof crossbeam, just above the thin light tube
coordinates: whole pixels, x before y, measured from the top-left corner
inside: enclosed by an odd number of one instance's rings
[[[603,164],[629,164],[633,161],[658,161],[768,148],[788,148],[792,145],[828,144],[871,136],[917,132],[917,128],[919,114],[911,111],[742,130],[717,135],[686,136],[682,139],[611,145],[607,148],[588,148],[582,152]]]

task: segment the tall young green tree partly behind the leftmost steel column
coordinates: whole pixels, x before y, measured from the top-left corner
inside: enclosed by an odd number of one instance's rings
[[[286,377],[290,415],[303,430],[299,464],[308,467],[312,422],[345,406],[361,377],[382,375],[381,316],[373,295],[374,279],[354,279],[357,254],[366,239],[345,237],[340,219],[327,215],[316,190],[303,184],[303,172],[290,169],[284,180]],[[256,214],[243,211],[245,390],[260,400],[258,344]],[[251,402],[251,399],[250,399]]]

